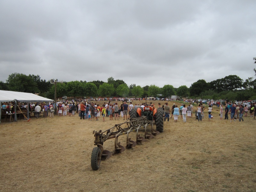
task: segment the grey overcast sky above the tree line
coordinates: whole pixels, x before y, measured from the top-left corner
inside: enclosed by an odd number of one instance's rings
[[[41,79],[129,86],[254,76],[255,0],[2,0],[0,81]]]

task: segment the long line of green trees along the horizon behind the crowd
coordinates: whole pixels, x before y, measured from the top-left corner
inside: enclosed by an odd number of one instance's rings
[[[255,59],[254,59],[255,60]],[[255,61],[256,62],[256,61]],[[255,76],[256,76],[256,70]],[[172,85],[164,85],[162,88],[155,84],[127,85],[123,80],[115,80],[109,77],[107,82],[95,80],[91,82],[70,81],[57,83],[57,98],[68,97],[171,97],[178,95],[189,98],[249,100],[256,99],[256,79],[248,77],[243,81],[239,76],[229,75],[221,79],[206,82],[204,79],[191,84],[188,88],[181,85],[174,88]],[[54,99],[55,85],[50,81],[41,79],[39,75],[25,75],[12,73],[4,83],[0,81],[0,89],[6,91],[40,93],[40,96]]]

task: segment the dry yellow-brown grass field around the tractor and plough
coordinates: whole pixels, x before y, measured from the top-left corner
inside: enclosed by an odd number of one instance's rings
[[[76,114],[2,123],[0,191],[256,191],[256,120],[220,120],[217,108],[213,116],[210,122],[207,116],[198,122],[195,113],[187,123],[172,118],[164,133],[101,161],[97,171],[92,132],[122,118],[96,122]],[[126,136],[119,138],[125,146]],[[114,139],[104,147],[114,151]]]

